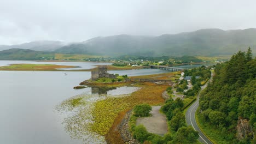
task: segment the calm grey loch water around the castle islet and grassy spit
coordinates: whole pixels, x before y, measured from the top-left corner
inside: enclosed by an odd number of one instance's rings
[[[28,61],[0,61],[0,65],[34,63]],[[36,62],[38,63],[38,62]],[[92,68],[100,63],[55,63]],[[67,75],[65,76],[64,73]],[[166,73],[159,69],[110,71],[120,75],[147,75]],[[63,100],[82,93],[92,93],[91,88],[75,90],[81,81],[90,79],[90,72],[72,71],[0,71],[0,143],[83,143],[72,139],[63,115],[55,107]],[[130,91],[118,88],[118,91]],[[128,90],[127,90],[128,89]]]

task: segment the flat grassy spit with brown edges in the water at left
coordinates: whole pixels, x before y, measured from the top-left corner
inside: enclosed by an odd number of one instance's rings
[[[61,68],[75,68],[74,66],[55,64],[11,64],[0,67],[0,70],[20,70],[20,71],[55,71]]]

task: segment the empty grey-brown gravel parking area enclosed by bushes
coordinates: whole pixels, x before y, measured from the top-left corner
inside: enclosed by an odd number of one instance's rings
[[[166,116],[159,112],[161,106],[152,106],[151,117],[137,118],[136,125],[143,124],[149,133],[164,135],[168,131]]]

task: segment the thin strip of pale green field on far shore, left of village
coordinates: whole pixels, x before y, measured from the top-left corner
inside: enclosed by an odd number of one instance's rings
[[[61,54],[56,53],[55,59],[56,60],[83,60],[86,58],[101,58],[102,56],[91,56],[91,55],[68,55],[68,54]]]

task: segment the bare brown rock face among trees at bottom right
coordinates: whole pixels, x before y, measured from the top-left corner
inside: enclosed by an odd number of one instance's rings
[[[239,118],[237,121],[237,139],[242,140],[246,137],[253,137],[253,129],[247,119]]]

